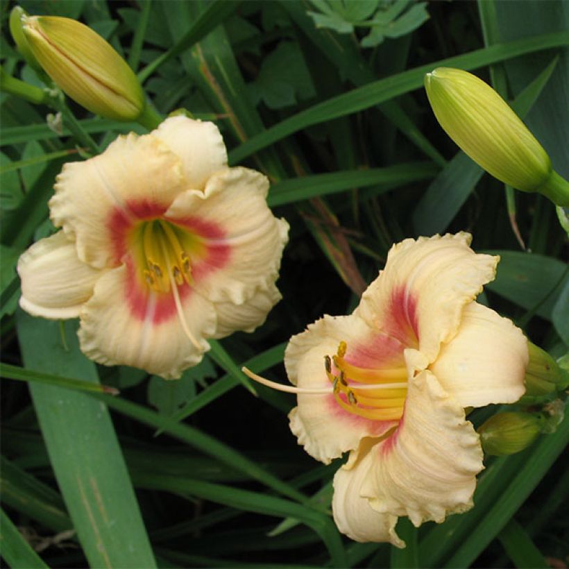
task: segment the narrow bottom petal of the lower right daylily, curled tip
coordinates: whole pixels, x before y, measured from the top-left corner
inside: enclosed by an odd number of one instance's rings
[[[395,531],[397,516],[375,511],[368,500],[359,495],[364,479],[370,474],[371,466],[371,454],[368,449],[360,454],[353,468],[348,470],[342,467],[334,475],[334,522],[341,533],[354,541],[389,542],[396,547],[405,547],[405,543]]]

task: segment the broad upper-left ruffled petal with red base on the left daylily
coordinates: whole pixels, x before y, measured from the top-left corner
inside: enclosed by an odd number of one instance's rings
[[[160,217],[185,189],[180,158],[159,139],[130,133],[99,156],[65,164],[49,202],[51,219],[74,236],[80,260],[118,266],[133,225]]]

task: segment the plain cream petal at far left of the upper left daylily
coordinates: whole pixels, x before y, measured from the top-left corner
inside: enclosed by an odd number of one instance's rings
[[[33,244],[19,258],[20,306],[33,316],[76,318],[93,294],[102,271],[80,262],[75,244],[62,231]]]

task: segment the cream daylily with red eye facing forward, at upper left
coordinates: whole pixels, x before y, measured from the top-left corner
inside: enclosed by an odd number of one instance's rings
[[[80,319],[85,355],[179,377],[207,338],[260,325],[280,299],[288,224],[261,173],[228,168],[212,123],[171,117],[65,164],[49,207],[62,228],[18,264],[20,305]]]

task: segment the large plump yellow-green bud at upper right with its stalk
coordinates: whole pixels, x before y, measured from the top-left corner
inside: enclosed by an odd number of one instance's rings
[[[492,176],[569,205],[569,182],[552,170],[543,146],[490,85],[467,71],[439,67],[426,74],[425,90],[445,132]]]

